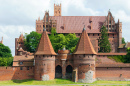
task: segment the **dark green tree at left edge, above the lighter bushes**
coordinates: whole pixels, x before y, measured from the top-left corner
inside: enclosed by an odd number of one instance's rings
[[[8,46],[0,43],[0,57],[12,57],[11,50]]]

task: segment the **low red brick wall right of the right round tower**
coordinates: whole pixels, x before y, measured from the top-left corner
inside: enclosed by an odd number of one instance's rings
[[[128,80],[130,67],[96,67],[96,78],[99,80]]]

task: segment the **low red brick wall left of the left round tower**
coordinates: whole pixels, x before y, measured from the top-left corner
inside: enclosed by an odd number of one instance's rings
[[[0,81],[34,79],[34,67],[0,67]]]

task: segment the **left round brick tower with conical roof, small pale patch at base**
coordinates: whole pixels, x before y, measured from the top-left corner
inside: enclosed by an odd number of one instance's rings
[[[55,55],[50,39],[44,28],[41,39],[34,55],[36,80],[52,80],[55,78]]]

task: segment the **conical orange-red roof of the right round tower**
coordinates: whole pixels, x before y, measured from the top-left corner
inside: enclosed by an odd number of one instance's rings
[[[88,37],[85,27],[83,28],[79,42],[73,54],[97,54],[93,45]]]

